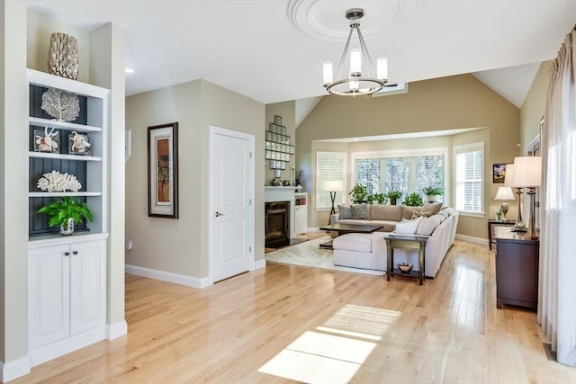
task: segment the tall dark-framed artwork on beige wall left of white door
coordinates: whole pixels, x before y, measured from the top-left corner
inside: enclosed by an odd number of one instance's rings
[[[148,127],[148,216],[178,219],[178,123]]]

